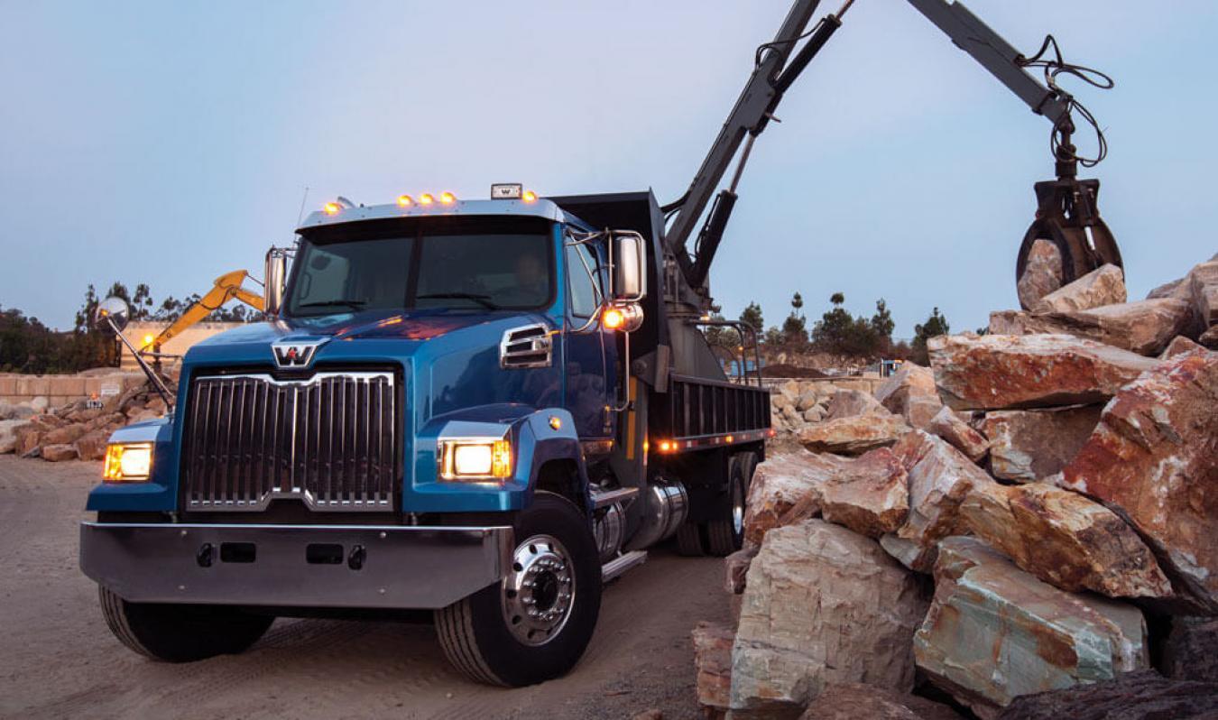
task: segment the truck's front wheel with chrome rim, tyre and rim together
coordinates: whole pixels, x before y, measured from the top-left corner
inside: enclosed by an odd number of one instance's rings
[[[600,560],[587,520],[538,492],[516,517],[508,575],[435,615],[448,662],[490,685],[525,686],[566,674],[600,614]]]

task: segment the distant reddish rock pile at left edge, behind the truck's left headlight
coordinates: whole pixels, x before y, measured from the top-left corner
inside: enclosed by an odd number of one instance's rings
[[[164,401],[146,384],[106,398],[101,407],[89,407],[86,401],[57,408],[37,404],[0,404],[0,454],[49,462],[100,461],[111,432],[166,413]]]

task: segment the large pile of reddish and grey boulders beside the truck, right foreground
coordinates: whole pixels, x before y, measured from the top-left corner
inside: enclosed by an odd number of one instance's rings
[[[1152,295],[1101,268],[808,398],[727,558],[738,625],[695,634],[708,714],[1218,710],[1218,262]]]

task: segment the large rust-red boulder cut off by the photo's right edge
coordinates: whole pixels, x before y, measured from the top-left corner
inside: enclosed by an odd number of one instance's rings
[[[1160,564],[1218,614],[1218,353],[1162,361],[1104,408],[1061,482],[1138,529]]]

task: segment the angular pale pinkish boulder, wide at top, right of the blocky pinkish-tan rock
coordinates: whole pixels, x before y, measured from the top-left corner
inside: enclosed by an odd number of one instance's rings
[[[907,473],[910,507],[905,524],[881,543],[905,566],[929,573],[938,541],[967,532],[960,514],[965,497],[994,480],[960,451],[921,430],[903,437],[893,453]]]

